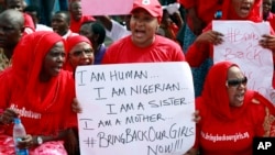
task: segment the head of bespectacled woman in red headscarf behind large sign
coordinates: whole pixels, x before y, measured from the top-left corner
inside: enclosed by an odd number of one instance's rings
[[[67,59],[66,70],[75,71],[77,66],[92,65],[95,60],[94,48],[90,41],[82,35],[70,36],[66,40]]]

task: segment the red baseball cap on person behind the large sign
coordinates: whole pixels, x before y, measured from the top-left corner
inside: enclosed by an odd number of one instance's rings
[[[158,0],[134,0],[131,13],[136,9],[144,9],[158,20],[163,18],[163,9]]]

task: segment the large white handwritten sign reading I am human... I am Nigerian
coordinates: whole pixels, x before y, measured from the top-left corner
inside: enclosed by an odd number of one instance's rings
[[[76,90],[81,154],[182,155],[194,144],[187,63],[82,66]]]

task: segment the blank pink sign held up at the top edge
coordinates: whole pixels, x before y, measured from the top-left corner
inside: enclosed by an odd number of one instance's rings
[[[134,0],[81,0],[82,13],[87,15],[130,14]]]

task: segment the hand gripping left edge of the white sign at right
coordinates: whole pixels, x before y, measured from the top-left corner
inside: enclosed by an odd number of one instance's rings
[[[223,34],[217,31],[209,30],[201,33],[195,41],[196,44],[212,43],[213,45],[219,45],[223,42]]]

